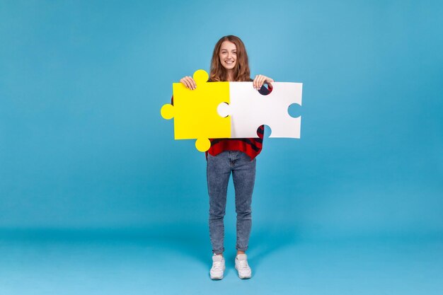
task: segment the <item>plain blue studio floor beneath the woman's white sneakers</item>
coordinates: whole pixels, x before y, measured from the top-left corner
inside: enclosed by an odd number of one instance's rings
[[[212,281],[206,234],[1,230],[0,294],[443,294],[442,238],[322,240],[258,232],[248,250],[253,277],[238,279],[230,249],[224,279]],[[225,244],[233,242],[226,237]]]

